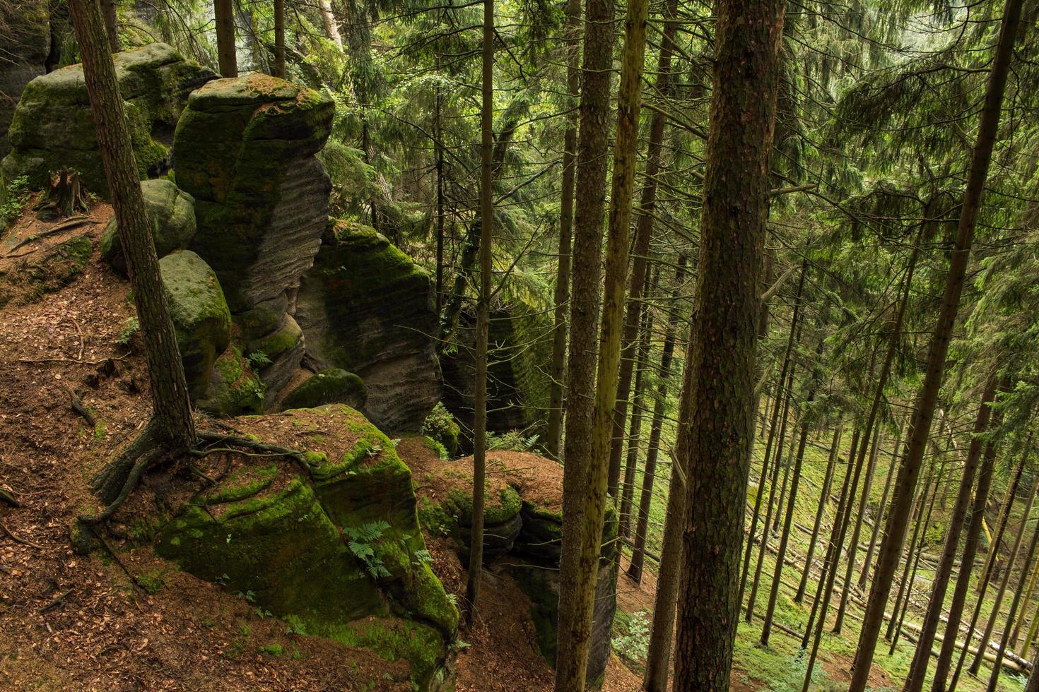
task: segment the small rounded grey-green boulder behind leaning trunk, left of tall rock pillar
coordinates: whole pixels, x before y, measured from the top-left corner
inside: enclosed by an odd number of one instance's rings
[[[174,250],[184,250],[194,238],[194,199],[164,177],[140,184],[144,209],[152,222],[155,253],[164,257]],[[118,236],[118,222],[113,215],[101,234],[101,258],[113,268],[127,271],[126,257]]]

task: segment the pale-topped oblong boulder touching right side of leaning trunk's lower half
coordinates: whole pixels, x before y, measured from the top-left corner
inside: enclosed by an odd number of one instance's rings
[[[216,274],[190,250],[159,260],[184,375],[193,397],[205,398],[216,357],[231,343],[231,312]]]

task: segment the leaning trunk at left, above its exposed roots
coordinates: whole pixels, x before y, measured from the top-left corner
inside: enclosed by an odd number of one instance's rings
[[[152,224],[137,176],[130,130],[115,81],[108,33],[97,0],[70,0],[76,38],[83,58],[86,92],[94,113],[98,148],[105,166],[119,243],[126,255],[137,319],[144,341],[144,358],[152,390],[153,425],[170,451],[187,451],[195,440],[191,404],[181,363]]]

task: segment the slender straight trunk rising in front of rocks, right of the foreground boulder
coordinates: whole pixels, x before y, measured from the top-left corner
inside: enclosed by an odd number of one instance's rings
[[[465,583],[465,622],[473,626],[483,572],[483,495],[487,452],[487,349],[490,326],[490,244],[495,206],[491,154],[495,117],[495,0],[483,0],[483,79],[480,105],[480,292],[476,302],[476,382],[473,406],[473,527]]]

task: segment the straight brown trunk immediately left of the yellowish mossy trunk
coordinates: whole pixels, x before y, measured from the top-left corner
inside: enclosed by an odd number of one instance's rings
[[[637,2],[636,4],[641,4]],[[600,260],[606,195],[610,134],[610,67],[613,59],[613,0],[587,0],[585,43],[582,60],[581,130],[577,147],[574,218],[574,271],[570,299],[570,349],[565,461],[563,466],[563,530],[560,562],[558,658],[556,691],[584,690],[588,663],[588,640],[595,589],[603,516],[606,510],[606,476],[609,462],[612,397],[616,394],[617,366],[610,353],[619,345],[613,313],[620,308],[623,292],[613,286],[627,271],[627,228],[611,224],[607,265],[610,316],[598,329]],[[625,47],[627,48],[627,47]],[[629,61],[625,60],[625,64]],[[629,77],[629,79],[631,79]],[[630,105],[629,105],[630,107]],[[619,124],[619,122],[618,122]],[[621,135],[618,133],[618,139]],[[615,174],[623,175],[617,169]],[[613,199],[613,203],[619,200]],[[612,214],[611,214],[612,220]],[[624,238],[623,247],[617,240]],[[623,261],[620,261],[620,260]],[[618,271],[619,268],[619,271]],[[621,286],[622,287],[622,286]],[[605,353],[596,359],[601,336]],[[616,354],[619,358],[619,350]],[[600,379],[596,383],[596,361]],[[604,368],[604,364],[607,367]],[[598,385],[596,387],[596,384]],[[597,409],[598,397],[607,400]],[[605,422],[600,424],[600,419]],[[605,438],[602,445],[600,438]],[[600,491],[602,485],[602,492]]]

